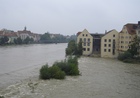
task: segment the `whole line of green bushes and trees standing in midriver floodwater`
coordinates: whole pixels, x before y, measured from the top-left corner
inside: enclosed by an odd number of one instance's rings
[[[76,44],[74,40],[70,41],[66,48],[67,58],[60,62],[54,62],[51,67],[49,67],[48,64],[43,65],[40,69],[40,79],[65,79],[66,75],[80,75],[78,57],[82,55],[81,44],[82,43]],[[67,52],[67,50],[69,51]],[[72,56],[73,53],[75,56]]]

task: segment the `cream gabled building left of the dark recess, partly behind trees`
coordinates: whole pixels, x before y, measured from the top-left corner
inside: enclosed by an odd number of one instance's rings
[[[93,37],[86,29],[78,33],[77,43],[80,41],[82,41],[83,55],[91,55],[93,50]]]

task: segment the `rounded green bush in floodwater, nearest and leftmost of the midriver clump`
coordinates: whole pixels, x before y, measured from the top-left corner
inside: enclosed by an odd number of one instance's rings
[[[64,79],[65,72],[62,71],[58,66],[48,67],[48,64],[42,66],[40,69],[40,78],[41,79]]]

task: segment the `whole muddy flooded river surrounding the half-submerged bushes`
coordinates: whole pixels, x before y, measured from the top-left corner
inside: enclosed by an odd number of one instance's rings
[[[32,59],[23,58],[27,61],[23,60],[25,65],[22,63],[20,67],[16,67],[18,64],[13,64],[16,70],[10,67],[12,64],[7,65],[10,69],[0,68],[2,70],[0,85],[7,84],[7,81],[10,83],[18,81],[1,89],[0,94],[5,98],[140,98],[140,65],[126,64],[115,59],[81,57],[78,60],[81,76],[67,76],[65,80],[39,80],[40,65],[46,62],[52,64],[56,60],[64,59],[66,46],[66,44],[52,44],[16,47],[17,50],[22,47],[25,52],[28,51],[26,54],[23,52],[23,55],[24,57],[28,55]],[[37,53],[30,53],[31,48]],[[30,52],[28,49],[31,49]],[[42,51],[38,51],[40,49]],[[10,52],[6,49],[3,51]],[[39,60],[36,54],[40,55],[40,59],[45,58]],[[0,63],[2,64],[3,61],[4,59]],[[11,63],[14,62],[11,61]]]

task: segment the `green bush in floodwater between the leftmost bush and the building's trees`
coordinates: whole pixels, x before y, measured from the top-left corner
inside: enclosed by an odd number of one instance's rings
[[[68,57],[67,60],[55,62],[53,66],[58,66],[66,75],[79,75],[77,57]]]

